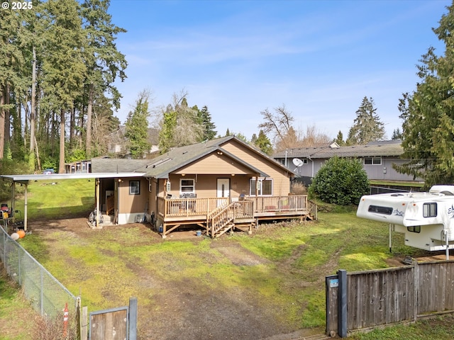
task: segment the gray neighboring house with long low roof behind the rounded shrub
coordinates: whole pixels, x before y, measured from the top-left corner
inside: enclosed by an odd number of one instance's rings
[[[302,147],[277,152],[273,158],[302,177],[314,177],[326,160],[331,157],[354,157],[361,159],[367,178],[381,181],[421,181],[413,176],[399,174],[392,164],[404,164],[400,140],[370,142],[367,145],[339,147],[336,143],[326,147]]]

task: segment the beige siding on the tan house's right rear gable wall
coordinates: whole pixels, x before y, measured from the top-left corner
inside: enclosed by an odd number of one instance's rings
[[[229,140],[226,144],[222,145],[223,149],[235,154],[236,157],[242,159],[244,162],[255,166],[255,168],[264,171],[270,179],[273,180],[273,195],[284,196],[290,192],[289,172],[282,169],[276,162],[265,157],[260,157],[252,150],[240,145],[235,140]]]

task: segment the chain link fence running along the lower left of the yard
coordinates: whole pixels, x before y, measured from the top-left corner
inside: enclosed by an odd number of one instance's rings
[[[21,285],[23,294],[36,312],[52,323],[59,323],[60,319],[61,329],[65,328],[68,338],[77,339],[80,329],[80,298],[72,295],[26,249],[11,239],[1,226],[0,259],[10,278]],[[67,323],[64,322],[65,307]]]

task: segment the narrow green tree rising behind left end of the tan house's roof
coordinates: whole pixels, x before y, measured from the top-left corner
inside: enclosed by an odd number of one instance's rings
[[[150,150],[148,142],[148,91],[142,91],[137,101],[135,109],[128,114],[125,124],[125,137],[128,138],[128,147],[133,159],[143,158],[144,154]]]

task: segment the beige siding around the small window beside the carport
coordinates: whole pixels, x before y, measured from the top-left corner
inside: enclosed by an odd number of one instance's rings
[[[140,181],[140,195],[129,194],[130,181]],[[118,212],[140,213],[145,211],[148,202],[148,180],[140,177],[121,179],[118,183],[118,195],[120,196],[120,206]]]

